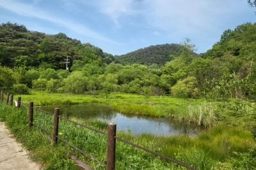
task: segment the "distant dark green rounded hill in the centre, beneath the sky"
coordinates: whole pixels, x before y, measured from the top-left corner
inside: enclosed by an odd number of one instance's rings
[[[179,56],[181,53],[180,45],[176,43],[166,43],[163,45],[150,45],[144,49],[138,49],[121,56],[115,56],[119,63],[123,65],[140,64],[163,66],[172,58],[170,55]]]

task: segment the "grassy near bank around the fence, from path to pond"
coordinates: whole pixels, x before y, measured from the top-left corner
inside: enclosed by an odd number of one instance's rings
[[[76,169],[74,162],[68,159],[70,153],[90,164],[94,169],[104,169],[97,161],[77,153],[76,150],[59,142],[57,146],[49,144],[45,132],[28,128],[28,109],[7,106],[0,102],[0,118],[5,121],[17,141],[24,144],[31,158],[41,162],[45,169]],[[52,117],[35,112],[35,123],[52,130]],[[107,124],[101,121],[78,120],[85,125],[106,131]],[[60,120],[60,137],[76,145],[102,162],[106,162],[105,135],[81,128],[73,123]],[[49,135],[49,134],[48,134]],[[116,134],[132,143],[157,151],[168,157],[186,162],[198,169],[255,169],[256,148],[251,132],[242,127],[217,125],[211,130],[191,138],[187,136],[158,137],[141,134],[131,135],[118,131]],[[49,135],[51,136],[51,134]],[[172,162],[158,158],[145,151],[116,141],[116,169],[185,169]]]

